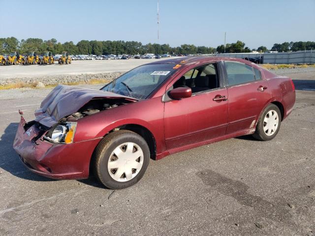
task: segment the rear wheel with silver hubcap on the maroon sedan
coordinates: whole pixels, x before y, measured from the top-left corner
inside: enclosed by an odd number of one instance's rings
[[[279,132],[281,119],[280,109],[275,104],[269,104],[261,114],[252,136],[261,141],[272,140]]]

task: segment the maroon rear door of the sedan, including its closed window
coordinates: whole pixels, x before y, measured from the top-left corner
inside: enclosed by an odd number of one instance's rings
[[[238,61],[224,61],[229,97],[227,134],[252,129],[271,98],[268,82],[258,69]]]

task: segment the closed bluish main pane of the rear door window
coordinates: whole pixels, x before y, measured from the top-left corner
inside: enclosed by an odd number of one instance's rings
[[[228,85],[239,85],[255,81],[252,66],[234,61],[224,61]]]

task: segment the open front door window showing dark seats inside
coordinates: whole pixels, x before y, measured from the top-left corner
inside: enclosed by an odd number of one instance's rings
[[[198,66],[179,78],[173,88],[189,87],[192,93],[220,88],[217,63]]]

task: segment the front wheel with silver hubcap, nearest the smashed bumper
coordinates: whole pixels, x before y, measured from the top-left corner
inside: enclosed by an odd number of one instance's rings
[[[118,130],[106,135],[95,149],[95,176],[110,189],[137,183],[146,172],[150,149],[138,134]]]

